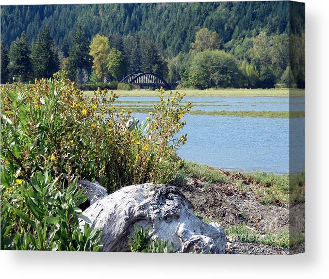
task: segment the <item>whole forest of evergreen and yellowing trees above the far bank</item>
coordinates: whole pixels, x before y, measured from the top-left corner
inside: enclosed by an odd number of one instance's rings
[[[151,71],[211,87],[305,87],[305,14],[287,1],[1,7],[1,83]]]

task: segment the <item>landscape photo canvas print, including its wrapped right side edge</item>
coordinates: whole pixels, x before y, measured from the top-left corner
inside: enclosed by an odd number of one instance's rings
[[[0,41],[1,249],[305,251],[304,3],[1,5]]]

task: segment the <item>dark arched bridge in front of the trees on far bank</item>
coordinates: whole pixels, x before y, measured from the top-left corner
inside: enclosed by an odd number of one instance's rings
[[[121,80],[122,83],[132,83],[138,85],[140,88],[152,87],[171,89],[171,85],[168,84],[164,78],[155,73],[132,73]]]

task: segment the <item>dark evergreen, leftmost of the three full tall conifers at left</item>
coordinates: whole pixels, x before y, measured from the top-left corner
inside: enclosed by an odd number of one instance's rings
[[[8,66],[11,77],[16,81],[27,82],[32,77],[32,64],[30,59],[30,47],[23,32],[10,46]]]

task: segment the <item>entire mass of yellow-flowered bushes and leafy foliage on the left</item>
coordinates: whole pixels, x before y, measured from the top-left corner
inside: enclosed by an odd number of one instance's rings
[[[78,228],[78,218],[85,219],[78,206],[86,197],[76,189],[77,178],[97,180],[112,193],[131,184],[166,183],[178,172],[176,151],[186,134],[177,133],[192,107],[180,105],[183,94],[164,98],[160,90],[160,102],[140,125],[131,111],[117,112],[113,92],[94,94],[84,98],[65,72],[31,88],[1,87],[4,248],[97,250],[99,234],[88,225]]]

